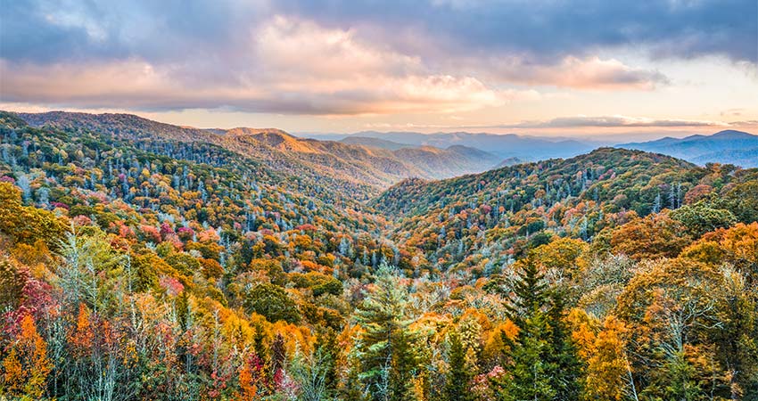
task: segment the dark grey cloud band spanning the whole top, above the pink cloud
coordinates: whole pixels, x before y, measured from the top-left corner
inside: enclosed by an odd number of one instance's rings
[[[226,51],[251,30],[283,14],[359,27],[369,40],[429,56],[497,52],[545,63],[645,46],[658,56],[758,62],[754,0],[17,0],[4,7],[3,58],[15,61],[232,56]]]

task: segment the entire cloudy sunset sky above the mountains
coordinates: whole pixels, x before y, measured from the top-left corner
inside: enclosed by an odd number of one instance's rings
[[[0,109],[194,127],[758,134],[756,0],[0,0]]]

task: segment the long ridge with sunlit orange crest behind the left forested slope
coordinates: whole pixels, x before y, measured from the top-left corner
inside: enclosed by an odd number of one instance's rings
[[[131,114],[88,114],[52,111],[18,113],[31,126],[89,129],[128,139],[161,138],[180,142],[204,142],[235,151],[289,176],[344,188],[346,193],[370,197],[408,177],[440,179],[490,169],[500,158],[464,147],[431,146],[381,149],[361,144],[304,139],[276,128],[237,127],[202,129],[178,127]],[[331,183],[331,184],[329,184]]]

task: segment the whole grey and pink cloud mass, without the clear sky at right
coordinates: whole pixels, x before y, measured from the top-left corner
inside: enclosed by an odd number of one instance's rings
[[[754,0],[18,0],[0,100],[135,110],[455,112],[530,86],[650,90],[611,56],[754,65]],[[526,89],[523,89],[523,88]]]

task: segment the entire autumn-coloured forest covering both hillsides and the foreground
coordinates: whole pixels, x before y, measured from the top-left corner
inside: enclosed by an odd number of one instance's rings
[[[365,148],[34,116],[0,114],[2,397],[758,399],[756,169],[604,148],[380,193]]]

